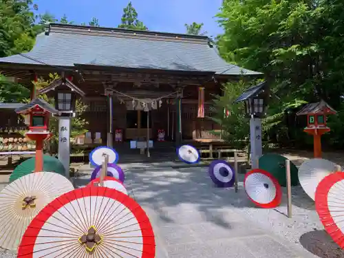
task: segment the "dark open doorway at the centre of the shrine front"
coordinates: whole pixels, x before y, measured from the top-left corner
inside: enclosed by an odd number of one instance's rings
[[[149,121],[147,121],[147,116]],[[148,136],[151,135],[151,111],[127,110],[127,129],[125,129],[126,140],[146,140],[147,139],[147,122]]]

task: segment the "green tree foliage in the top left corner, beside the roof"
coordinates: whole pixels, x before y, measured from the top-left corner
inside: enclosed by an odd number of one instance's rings
[[[32,1],[0,1],[0,57],[28,52],[34,45]]]

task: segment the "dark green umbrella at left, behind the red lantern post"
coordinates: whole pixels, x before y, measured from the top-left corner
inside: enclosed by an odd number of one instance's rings
[[[19,164],[10,175],[10,182],[21,178],[23,175],[32,173],[32,171],[34,171],[34,164],[34,158],[29,158],[28,160],[21,162],[21,164]],[[65,175],[63,164],[60,160],[50,155],[43,155],[43,171]]]

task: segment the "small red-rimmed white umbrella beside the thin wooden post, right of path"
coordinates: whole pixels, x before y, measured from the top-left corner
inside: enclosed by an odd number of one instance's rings
[[[281,186],[276,178],[263,169],[246,173],[244,189],[248,198],[261,208],[275,208],[281,203]]]

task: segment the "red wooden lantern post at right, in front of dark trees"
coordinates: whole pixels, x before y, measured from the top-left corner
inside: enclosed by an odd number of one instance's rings
[[[321,100],[318,103],[308,103],[303,107],[297,116],[307,116],[307,127],[303,129],[306,133],[313,136],[314,158],[321,158],[321,136],[330,131],[327,127],[327,115],[336,114],[336,110]]]

